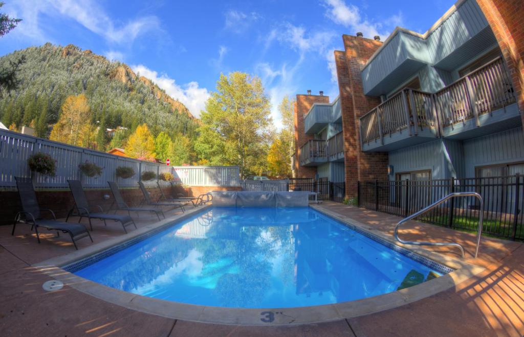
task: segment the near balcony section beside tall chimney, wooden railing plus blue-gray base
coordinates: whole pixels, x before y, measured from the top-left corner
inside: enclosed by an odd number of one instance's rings
[[[364,151],[391,151],[439,136],[432,94],[402,89],[360,118]]]

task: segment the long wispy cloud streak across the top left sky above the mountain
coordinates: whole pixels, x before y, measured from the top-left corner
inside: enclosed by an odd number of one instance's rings
[[[16,30],[18,34],[40,41],[46,40],[44,27],[39,21],[41,14],[72,19],[112,44],[129,44],[140,35],[161,30],[156,16],[137,17],[123,25],[116,24],[99,3],[90,0],[81,3],[72,0],[21,1],[12,6],[16,17],[24,19],[20,23],[20,29]]]

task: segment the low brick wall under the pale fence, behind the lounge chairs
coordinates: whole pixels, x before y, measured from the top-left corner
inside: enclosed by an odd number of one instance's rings
[[[198,197],[198,195],[210,191],[224,191],[224,190],[241,190],[240,187],[212,187],[212,186],[192,186],[187,191],[176,190],[177,193],[184,192],[189,196]],[[152,200],[160,199],[160,191],[158,188],[148,188]],[[163,188],[166,194],[171,193],[171,187]],[[138,188],[121,189],[122,197],[129,206],[136,206],[143,199],[143,194]],[[173,191],[175,192],[175,191]],[[109,189],[85,190],[86,197],[91,205],[101,205],[104,211],[110,209],[113,203],[113,194]],[[110,195],[110,199],[104,199],[104,195]],[[37,191],[36,196],[40,208],[47,208],[52,210],[57,218],[65,218],[69,210],[74,206],[73,198],[69,190],[65,191]],[[167,195],[166,195],[167,196]],[[0,193],[0,225],[13,224],[15,215],[21,210],[20,198],[17,191],[2,191]],[[45,214],[47,215],[47,214]]]

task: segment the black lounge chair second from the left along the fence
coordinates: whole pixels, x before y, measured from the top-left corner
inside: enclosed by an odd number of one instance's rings
[[[71,193],[73,194],[75,206],[69,211],[65,221],[68,221],[70,216],[79,216],[80,219],[78,220],[78,222],[80,222],[82,218],[88,218],[91,230],[93,230],[93,224],[91,223],[91,219],[103,220],[106,226],[106,220],[118,221],[122,224],[122,227],[124,227],[124,232],[126,233],[126,226],[134,225],[135,228],[137,228],[135,222],[133,221],[133,218],[131,218],[131,216],[129,215],[107,214],[104,213],[104,210],[100,205],[90,205],[88,203],[88,199],[85,198],[84,189],[82,188],[82,183],[80,182],[80,180],[68,180],[67,182],[69,183],[69,188],[71,189]],[[98,208],[100,212],[90,212],[90,209],[94,207]]]

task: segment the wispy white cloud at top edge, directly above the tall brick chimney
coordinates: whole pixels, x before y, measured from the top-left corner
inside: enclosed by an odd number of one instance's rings
[[[378,35],[381,39],[386,39],[389,32],[395,26],[402,25],[402,13],[399,12],[382,22],[369,21],[361,14],[359,8],[352,4],[346,4],[344,0],[323,0],[326,8],[325,16],[334,23],[353,30],[353,34],[362,31],[364,37],[373,38]]]

